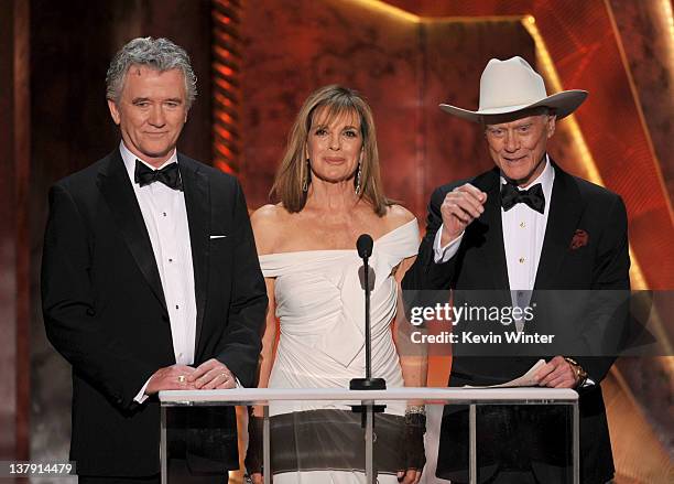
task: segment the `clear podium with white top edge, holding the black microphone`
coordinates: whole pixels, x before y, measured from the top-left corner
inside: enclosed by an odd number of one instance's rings
[[[340,401],[344,405],[362,405],[367,408],[365,433],[365,475],[368,484],[376,482],[373,470],[372,408],[400,401],[423,401],[426,405],[468,406],[469,422],[469,478],[477,483],[476,417],[477,407],[486,405],[554,405],[570,408],[573,483],[579,484],[579,415],[578,394],[572,389],[553,388],[390,388],[387,390],[349,390],[338,388],[236,388],[230,390],[170,390],[160,391],[161,402],[161,481],[168,483],[166,466],[166,411],[177,407],[196,406],[249,406],[264,409],[263,469],[271,469],[269,404],[292,401]],[[264,473],[265,484],[271,472]]]

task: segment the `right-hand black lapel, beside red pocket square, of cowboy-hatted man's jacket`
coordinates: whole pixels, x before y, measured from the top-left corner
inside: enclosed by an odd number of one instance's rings
[[[556,164],[553,166],[555,182],[534,290],[555,288],[559,275],[563,275],[562,262],[568,254],[568,245],[585,205],[574,179]]]

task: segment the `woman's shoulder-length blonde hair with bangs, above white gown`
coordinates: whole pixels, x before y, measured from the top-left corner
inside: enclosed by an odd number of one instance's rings
[[[335,84],[315,90],[304,101],[289,135],[285,154],[276,171],[274,184],[269,193],[270,197],[280,201],[291,213],[297,213],[304,208],[307,193],[302,190],[303,184],[311,183],[305,147],[314,115],[322,108],[325,108],[326,123],[345,115],[359,117],[362,159],[358,195],[372,206],[377,215],[383,216],[391,202],[383,194],[379,174],[379,152],[372,110],[358,92]],[[355,186],[356,182],[355,178]]]

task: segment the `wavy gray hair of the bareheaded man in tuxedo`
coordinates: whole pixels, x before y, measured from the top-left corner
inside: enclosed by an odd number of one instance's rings
[[[106,74],[106,98],[118,103],[124,87],[124,77],[132,65],[144,65],[164,72],[180,69],[185,79],[187,109],[196,98],[196,75],[187,52],[168,39],[138,37],[126,44],[110,62]]]

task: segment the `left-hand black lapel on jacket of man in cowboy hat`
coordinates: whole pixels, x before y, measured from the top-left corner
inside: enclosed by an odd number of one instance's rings
[[[492,289],[510,289],[508,281],[508,266],[506,263],[506,248],[503,245],[503,224],[501,222],[501,194],[498,170],[492,170],[474,181],[475,186],[487,193],[485,212],[478,221],[483,221],[485,244],[490,260],[485,261],[485,270],[490,272],[493,281]],[[487,279],[489,276],[486,276]],[[490,289],[490,288],[485,288]]]

